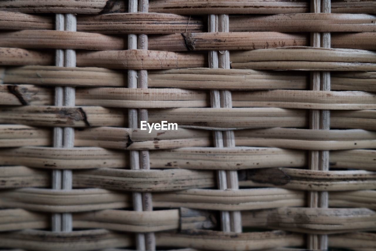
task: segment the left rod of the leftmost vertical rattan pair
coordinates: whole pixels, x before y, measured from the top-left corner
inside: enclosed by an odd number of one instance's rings
[[[55,30],[64,31],[65,30],[65,15],[56,14],[55,15]],[[56,50],[55,55],[55,65],[63,67],[64,66],[64,51],[61,49]],[[55,106],[63,105],[63,87],[55,87]],[[63,129],[61,127],[54,127],[53,129],[53,147],[62,147],[63,146]],[[52,171],[52,189],[61,189],[61,170]],[[60,232],[61,231],[61,214],[55,213],[52,215],[52,231]]]

